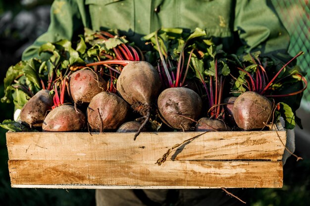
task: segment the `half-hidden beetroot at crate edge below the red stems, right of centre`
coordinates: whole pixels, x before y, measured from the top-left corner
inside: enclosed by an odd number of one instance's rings
[[[195,131],[230,131],[230,128],[221,120],[203,117],[195,125]]]

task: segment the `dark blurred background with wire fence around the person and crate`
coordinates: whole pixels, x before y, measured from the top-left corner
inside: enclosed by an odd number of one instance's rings
[[[310,82],[310,4],[309,0],[271,0],[284,26],[291,35],[289,53],[305,54],[298,64]],[[9,66],[21,59],[21,54],[50,24],[52,0],[0,0],[0,97],[3,78]],[[13,106],[0,103],[0,122],[12,119]],[[281,189],[248,189],[251,206],[309,206],[310,204],[310,88],[304,91],[297,115],[304,129],[295,129],[295,154],[284,165],[284,186]],[[0,206],[95,206],[95,191],[80,189],[18,189],[11,188],[6,130],[0,128]],[[244,204],[242,204],[244,205]]]

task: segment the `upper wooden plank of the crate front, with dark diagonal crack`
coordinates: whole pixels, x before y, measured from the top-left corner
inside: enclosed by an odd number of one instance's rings
[[[10,160],[156,161],[176,144],[172,160],[281,160],[285,131],[134,133],[7,132]],[[282,140],[282,142],[281,142]]]

